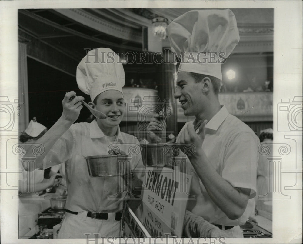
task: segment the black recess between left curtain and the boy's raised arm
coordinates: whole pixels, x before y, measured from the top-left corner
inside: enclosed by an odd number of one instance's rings
[[[74,77],[32,58],[27,58],[27,64],[30,119],[36,117],[48,129],[52,127],[62,114],[61,102],[65,93],[72,90],[84,96],[85,101],[90,101],[89,96],[79,90]],[[83,108],[77,122],[84,122],[89,115],[89,110]]]

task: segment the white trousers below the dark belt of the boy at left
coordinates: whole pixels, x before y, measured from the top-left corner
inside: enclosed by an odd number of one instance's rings
[[[86,214],[87,212],[80,212],[78,215],[67,212],[58,239],[88,238],[95,240],[95,238],[101,237],[120,237],[121,221],[115,221],[114,214],[112,216],[110,213],[108,214],[110,220],[92,219]]]

